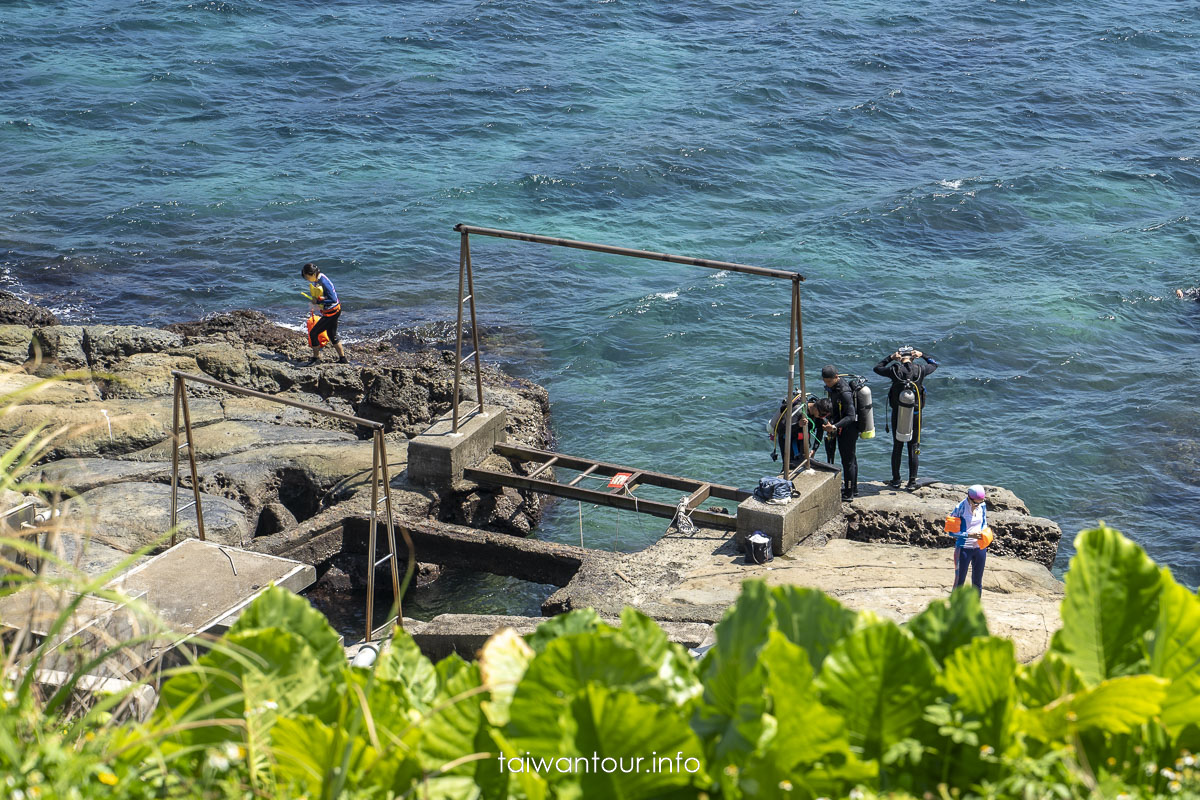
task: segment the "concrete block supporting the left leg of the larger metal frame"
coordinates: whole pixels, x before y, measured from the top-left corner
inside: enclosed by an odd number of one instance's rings
[[[408,443],[408,479],[439,489],[462,480],[462,470],[475,467],[504,441],[508,414],[500,407],[460,417],[458,432],[451,433],[451,414],[439,417],[430,429]]]

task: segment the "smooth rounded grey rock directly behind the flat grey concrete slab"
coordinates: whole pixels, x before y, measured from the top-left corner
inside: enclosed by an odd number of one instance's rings
[[[179,506],[193,500],[191,489],[180,489]],[[210,542],[245,546],[251,539],[250,523],[241,506],[226,498],[200,495],[204,533]],[[169,546],[170,487],[162,483],[114,483],[84,492],[66,504],[64,516],[74,533],[86,533],[97,541],[132,553],[148,545],[162,551]],[[179,513],[179,536],[196,537],[196,511]]]

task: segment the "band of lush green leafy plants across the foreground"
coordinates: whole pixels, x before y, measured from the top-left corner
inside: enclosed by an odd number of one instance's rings
[[[120,696],[68,718],[11,672],[0,775],[12,798],[1196,796],[1200,599],[1112,529],[1075,547],[1032,664],[970,589],[896,625],[748,582],[698,662],[626,609],[472,663],[400,632],[362,669],[272,588],[144,723],[113,722]]]

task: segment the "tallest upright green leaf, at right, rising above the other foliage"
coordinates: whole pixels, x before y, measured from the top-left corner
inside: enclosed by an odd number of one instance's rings
[[[1160,570],[1120,533],[1103,525],[1082,531],[1067,571],[1062,628],[1050,646],[1088,684],[1138,672],[1162,585]]]

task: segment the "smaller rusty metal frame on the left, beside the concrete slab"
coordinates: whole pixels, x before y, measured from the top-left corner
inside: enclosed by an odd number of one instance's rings
[[[312,414],[320,414],[323,416],[330,416],[336,420],[342,420],[343,422],[353,422],[354,425],[362,426],[371,431],[372,439],[372,452],[371,452],[371,533],[367,536],[367,561],[371,566],[367,569],[367,632],[366,642],[371,642],[373,633],[372,618],[374,616],[374,573],[376,569],[382,566],[385,561],[391,564],[391,588],[394,596],[396,597],[396,624],[401,627],[404,626],[403,614],[401,613],[401,590],[407,589],[409,582],[413,578],[413,572],[416,569],[416,557],[413,549],[413,540],[409,536],[408,529],[403,525],[398,525],[401,535],[404,537],[404,543],[408,547],[408,567],[404,571],[403,583],[400,579],[398,567],[396,565],[396,534],[394,529],[392,515],[391,515],[391,480],[388,475],[388,449],[383,438],[383,423],[376,422],[374,420],[365,420],[360,416],[353,416],[350,414],[342,414],[341,411],[334,411],[331,409],[320,408],[319,405],[312,405],[310,403],[300,403],[296,401],[284,399],[282,397],[275,397],[272,395],[266,395],[264,392],[257,392],[252,389],[242,389],[241,386],[234,386],[233,384],[226,384],[220,380],[214,380],[206,375],[194,375],[187,372],[179,372],[178,369],[172,369],[172,380],[174,383],[174,404],[170,423],[170,546],[175,546],[175,536],[179,525],[179,512],[186,511],[187,509],[196,507],[196,528],[199,531],[200,541],[204,539],[204,511],[200,505],[200,482],[197,476],[196,470],[196,446],[192,439],[192,414],[187,405],[187,383],[204,384],[205,386],[212,386],[222,391],[230,392],[233,395],[242,395],[245,397],[257,397],[258,399],[264,399],[271,403],[277,403],[280,405],[289,405],[292,408],[298,408]],[[182,411],[184,417],[184,434],[187,439],[184,444],[179,441],[179,417],[180,411]],[[179,451],[187,449],[187,462],[192,473],[192,501],[185,505],[182,509],[179,506]],[[383,497],[379,497],[379,487],[383,486]],[[379,516],[379,504],[384,504],[384,513],[386,516],[386,529],[388,529],[388,554],[382,559],[376,560],[376,530]],[[386,627],[386,622],[384,624]]]

